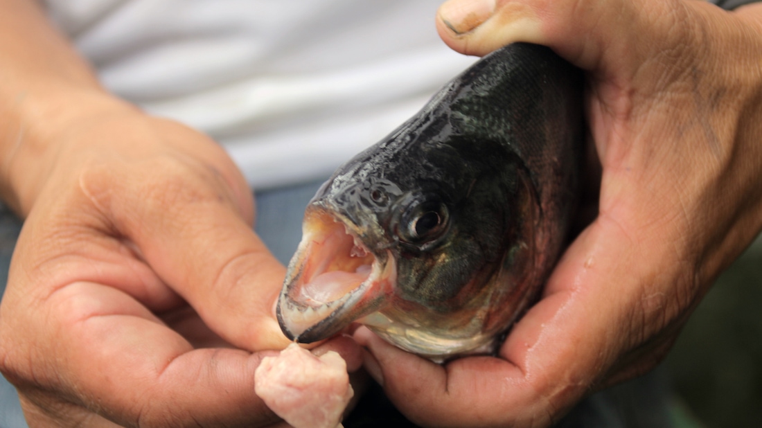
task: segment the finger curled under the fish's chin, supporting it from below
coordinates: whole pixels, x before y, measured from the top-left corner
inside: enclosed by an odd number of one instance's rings
[[[366,368],[395,407],[421,426],[537,426],[548,423],[541,397],[520,394],[527,379],[504,359],[471,356],[440,366],[393,347],[367,330],[355,333],[367,347]]]

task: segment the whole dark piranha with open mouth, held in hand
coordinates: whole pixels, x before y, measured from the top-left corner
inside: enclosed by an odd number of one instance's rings
[[[552,50],[514,43],[341,166],[306,208],[283,333],[311,343],[358,322],[434,360],[495,350],[568,239],[581,88]]]

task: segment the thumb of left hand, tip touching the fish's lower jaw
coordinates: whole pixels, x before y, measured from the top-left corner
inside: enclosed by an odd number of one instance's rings
[[[273,307],[284,268],[252,232],[226,179],[224,168],[235,168],[221,158],[168,152],[94,164],[79,188],[96,221],[113,229],[107,233],[132,242],[223,339],[249,350],[283,348]]]

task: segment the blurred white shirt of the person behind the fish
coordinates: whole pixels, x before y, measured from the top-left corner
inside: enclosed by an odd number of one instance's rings
[[[252,187],[328,177],[473,58],[442,0],[45,0],[104,85],[223,144]]]

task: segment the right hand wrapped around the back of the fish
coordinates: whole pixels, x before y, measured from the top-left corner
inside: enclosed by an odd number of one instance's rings
[[[422,426],[547,426],[652,369],[762,225],[762,6],[452,0],[454,50],[550,46],[587,72],[597,217],[498,357],[439,366],[360,329],[368,371]]]

